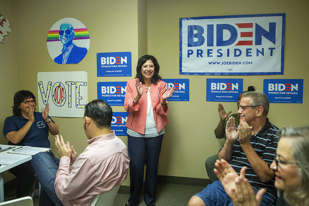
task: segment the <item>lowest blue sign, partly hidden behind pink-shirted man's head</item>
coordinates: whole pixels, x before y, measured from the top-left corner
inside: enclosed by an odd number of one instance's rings
[[[127,122],[129,112],[113,112],[111,130],[118,136],[127,136]]]

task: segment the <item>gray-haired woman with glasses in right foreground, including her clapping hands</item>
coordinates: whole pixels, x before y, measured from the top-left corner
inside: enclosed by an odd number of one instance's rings
[[[270,165],[276,174],[275,187],[279,194],[276,206],[309,205],[309,127],[282,128],[278,136],[277,152]],[[260,205],[265,189],[254,194],[245,178],[246,167],[239,176],[223,159],[215,165],[214,172],[235,206]]]

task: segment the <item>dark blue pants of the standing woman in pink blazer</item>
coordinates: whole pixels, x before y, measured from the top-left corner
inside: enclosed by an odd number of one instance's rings
[[[158,164],[163,134],[157,137],[132,137],[128,135],[128,153],[130,158],[130,206],[137,206],[142,191],[144,166],[146,177],[144,201],[148,205],[155,204]]]

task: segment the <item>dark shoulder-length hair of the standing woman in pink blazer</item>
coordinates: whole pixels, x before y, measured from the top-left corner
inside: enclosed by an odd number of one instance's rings
[[[160,66],[159,66],[157,59],[154,56],[151,56],[148,54],[138,59],[135,78],[138,78],[139,81],[142,82],[142,84],[145,84],[144,78],[142,76],[142,65],[145,64],[145,62],[149,59],[154,63],[154,66],[155,66],[155,74],[153,75],[151,79],[151,83],[157,84],[158,80],[162,79],[162,77],[159,75]]]

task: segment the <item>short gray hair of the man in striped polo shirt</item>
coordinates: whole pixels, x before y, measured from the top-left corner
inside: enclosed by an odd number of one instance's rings
[[[250,97],[252,99],[250,106],[263,107],[263,115],[266,117],[269,111],[269,101],[267,96],[260,91],[248,91],[243,93],[243,97]]]

